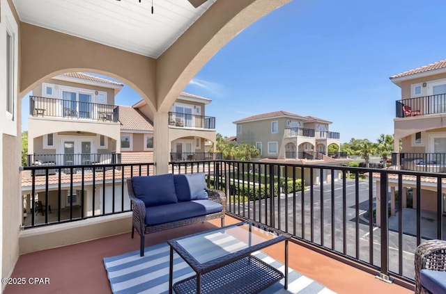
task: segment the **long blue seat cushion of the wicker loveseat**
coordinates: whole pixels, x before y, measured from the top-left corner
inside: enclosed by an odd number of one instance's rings
[[[222,211],[222,204],[208,199],[146,207],[146,224],[164,224]]]

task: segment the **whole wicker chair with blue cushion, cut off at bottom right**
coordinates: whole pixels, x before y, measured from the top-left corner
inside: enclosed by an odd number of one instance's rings
[[[415,294],[446,293],[446,241],[427,240],[415,251]]]

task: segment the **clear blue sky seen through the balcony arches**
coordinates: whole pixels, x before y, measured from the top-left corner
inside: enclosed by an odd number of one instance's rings
[[[206,115],[223,136],[235,120],[282,110],[332,121],[341,142],[374,141],[393,133],[401,99],[389,76],[446,58],[444,11],[443,0],[294,0],[233,38],[185,92],[213,99]],[[139,99],[125,86],[116,104]]]

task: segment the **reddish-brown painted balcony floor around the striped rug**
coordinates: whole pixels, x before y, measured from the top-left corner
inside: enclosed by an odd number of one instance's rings
[[[226,216],[226,224],[239,222]],[[220,227],[220,220],[192,224],[146,236],[146,246],[171,238]],[[130,229],[130,228],[129,228]],[[136,234],[137,235],[137,234]],[[103,258],[139,250],[139,236],[130,232],[89,242],[58,247],[20,256],[11,277],[49,278],[47,285],[7,285],[5,294],[21,293],[112,293]],[[283,245],[263,250],[284,262]],[[375,275],[337,261],[296,243],[289,243],[289,266],[337,293],[413,293],[397,284],[387,284]]]

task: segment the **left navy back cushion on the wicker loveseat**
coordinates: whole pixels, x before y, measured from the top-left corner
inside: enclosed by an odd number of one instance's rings
[[[174,174],[133,177],[132,182],[134,195],[144,201],[146,207],[178,202]]]

